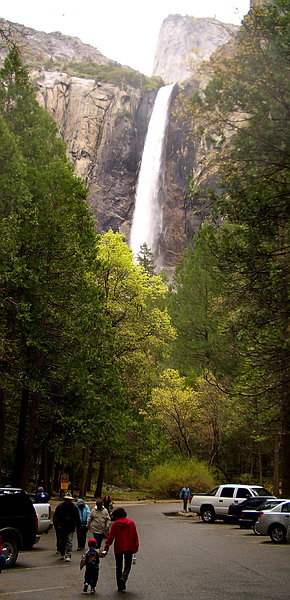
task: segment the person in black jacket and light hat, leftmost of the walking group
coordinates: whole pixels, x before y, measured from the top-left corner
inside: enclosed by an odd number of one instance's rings
[[[71,494],[66,494],[63,502],[57,505],[53,524],[56,531],[57,549],[60,553],[60,559],[70,562],[72,542],[75,528],[80,524],[79,511],[73,503]]]

